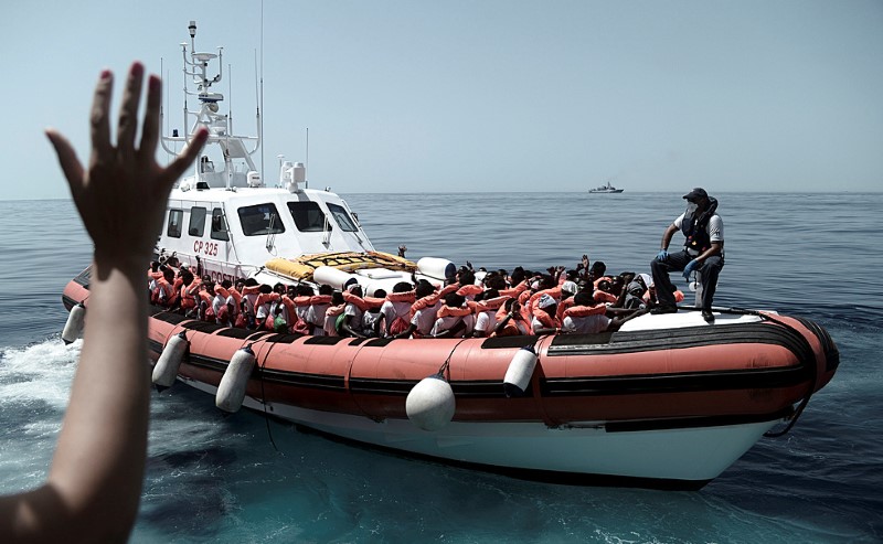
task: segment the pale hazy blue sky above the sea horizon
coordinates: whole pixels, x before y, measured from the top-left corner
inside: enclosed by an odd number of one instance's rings
[[[3,2],[0,199],[68,196],[42,131],[85,157],[103,67],[162,58],[180,128],[191,19],[255,134],[259,1]],[[883,188],[880,0],[265,0],[263,52],[269,180],[309,127],[342,193]]]

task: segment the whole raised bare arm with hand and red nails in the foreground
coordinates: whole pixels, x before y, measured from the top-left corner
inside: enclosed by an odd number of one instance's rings
[[[123,542],[138,512],[150,391],[143,269],[169,191],[208,137],[201,129],[169,167],[159,166],[158,76],[148,78],[136,146],[142,82],[143,66],[136,62],[126,79],[114,146],[113,74],[102,73],[86,168],[66,138],[46,130],[95,254],[83,350],[49,478],[33,491],[0,498],[3,542]]]

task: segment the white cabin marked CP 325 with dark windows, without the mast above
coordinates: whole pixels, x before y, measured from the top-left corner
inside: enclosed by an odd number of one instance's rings
[[[359,220],[338,194],[312,189],[211,188],[190,178],[172,191],[157,247],[213,278],[256,274],[276,257],[373,252]]]

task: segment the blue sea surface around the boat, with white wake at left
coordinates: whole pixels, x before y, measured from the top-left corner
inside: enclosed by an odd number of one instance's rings
[[[476,267],[649,271],[682,193],[344,195],[381,250]],[[883,194],[716,195],[715,303],[813,319],[842,362],[789,435],[699,492],[521,481],[363,449],[259,414],[153,394],[132,542],[883,541]],[[67,201],[0,202],[0,492],[45,478],[81,342],[64,285],[91,243]],[[677,235],[680,236],[680,235]],[[675,243],[681,238],[675,237]],[[648,452],[652,455],[652,452]]]

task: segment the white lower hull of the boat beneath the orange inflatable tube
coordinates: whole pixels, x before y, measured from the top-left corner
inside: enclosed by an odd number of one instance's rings
[[[212,395],[216,392],[211,385],[181,380]],[[774,419],[726,426],[609,431],[604,422],[556,428],[540,423],[453,422],[442,430],[426,431],[407,419],[375,422],[273,403],[265,407],[252,397],[246,397],[243,405],[258,412],[266,408],[274,417],[350,440],[457,463],[480,465],[515,476],[519,471],[543,472],[549,479],[555,479],[555,473],[583,474],[606,477],[618,483],[636,480],[641,486],[651,480],[660,487],[673,488],[699,488],[713,480],[778,423]]]

